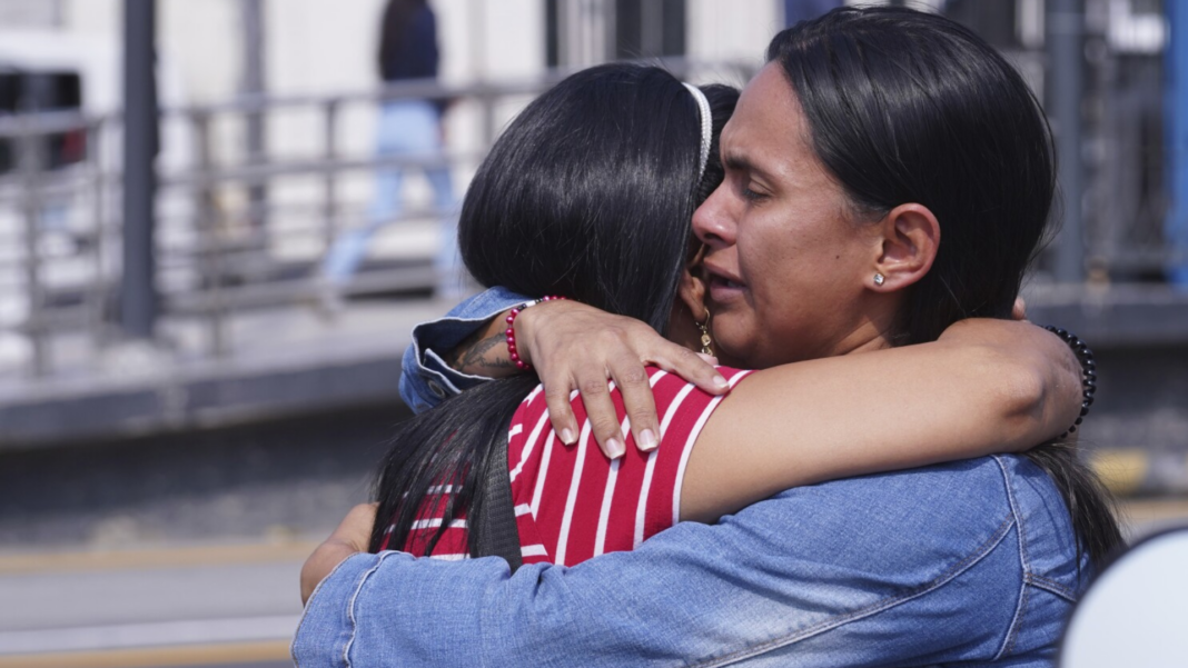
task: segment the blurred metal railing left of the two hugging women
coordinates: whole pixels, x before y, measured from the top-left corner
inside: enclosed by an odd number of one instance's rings
[[[677,59],[664,65],[678,76],[706,81],[742,83],[752,72],[737,63]],[[461,87],[402,82],[341,95],[245,96],[163,109],[156,203],[160,322],[184,320],[191,331],[203,332],[195,354],[227,355],[234,346],[228,323],[236,313],[316,300],[318,263],[340,233],[364,222],[360,192],[377,170],[446,166],[456,180],[468,179],[500,125],[567,74]],[[469,128],[469,148],[378,157],[369,142],[359,141],[359,133],[356,146],[345,145],[349,133],[343,127],[353,115],[394,100],[450,101],[467,109],[476,126]],[[264,160],[248,155],[235,136],[248,115],[263,116],[266,123],[303,115],[304,148],[280,148]],[[287,121],[290,129],[298,126],[292,117]],[[86,135],[82,160],[49,168],[49,138],[78,131]],[[15,168],[0,173],[0,376],[69,371],[68,363],[53,360],[67,345],[63,337],[72,341],[68,348],[89,351],[120,339],[116,147],[122,131],[118,114],[0,116],[0,147],[15,148],[19,157]],[[173,151],[178,141],[183,149]],[[265,186],[267,199],[252,201],[252,186]],[[393,222],[425,230],[455,214],[419,206]],[[431,254],[426,250],[421,261],[378,262],[386,266],[360,273],[342,290],[426,292],[438,279],[425,261]]]

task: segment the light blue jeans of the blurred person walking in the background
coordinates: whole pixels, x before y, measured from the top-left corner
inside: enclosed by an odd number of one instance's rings
[[[423,100],[385,103],[380,108],[375,144],[375,154],[379,158],[440,154],[442,142],[437,108]],[[454,184],[447,167],[430,167],[424,170],[424,174],[434,190],[434,205],[438,211],[447,212],[441,220],[440,247],[434,259],[434,269],[437,272],[435,285],[438,291],[455,294],[459,292],[461,278],[457,275]],[[348,281],[367,255],[372,236],[400,215],[400,185],[404,183],[404,177],[403,167],[384,167],[377,171],[375,195],[367,210],[365,224],[339,235],[322,265],[322,275],[330,282],[341,285]]]

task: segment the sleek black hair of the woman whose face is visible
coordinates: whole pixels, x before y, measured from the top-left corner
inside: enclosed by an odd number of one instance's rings
[[[1050,238],[1056,187],[1047,117],[1019,74],[960,24],[896,7],[843,7],[777,34],[778,63],[816,157],[859,218],[928,206],[942,243],[892,331],[935,341],[962,318],[1007,318]],[[1123,543],[1108,494],[1069,443],[1028,453],[1054,481],[1078,546],[1100,564]]]

